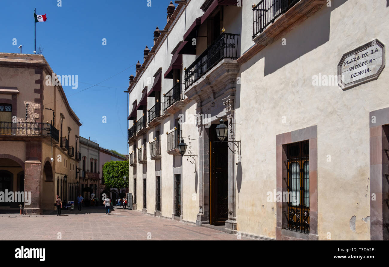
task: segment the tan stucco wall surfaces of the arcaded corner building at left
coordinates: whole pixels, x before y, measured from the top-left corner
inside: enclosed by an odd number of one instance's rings
[[[21,62],[20,64],[26,64],[26,68],[19,68],[17,66],[6,66],[0,67],[1,79],[0,86],[2,87],[16,87],[19,93],[16,95],[16,107],[17,109],[17,121],[25,121],[26,103],[28,103],[27,110],[27,121],[35,122],[42,121],[43,123],[50,123],[53,119],[52,111],[45,110],[46,107],[52,108],[55,111],[55,127],[60,129],[60,114],[62,113],[65,117],[63,119],[63,136],[67,137],[68,127],[72,128],[70,132],[69,145],[75,147],[76,135],[79,136],[79,122],[77,116],[70,109],[66,97],[63,97],[63,90],[61,86],[51,86],[46,84],[46,76],[52,75],[53,71],[47,64],[46,59],[42,55],[26,55],[26,54],[7,54],[0,53],[0,60],[7,62]],[[35,67],[32,66],[35,63],[46,64],[43,68],[43,94],[42,102],[35,101],[40,98],[40,94],[35,93],[34,89],[39,89],[40,84],[35,81],[40,80],[41,75],[35,74]],[[42,66],[42,65],[40,65]],[[62,93],[62,94],[61,94]],[[12,99],[11,95],[0,94],[0,99]],[[42,109],[42,114],[35,113],[36,110]],[[71,115],[72,114],[72,115]],[[68,156],[66,151],[60,149],[59,144],[53,141],[53,158],[54,162],[51,163],[51,139],[49,137],[33,137],[28,140],[33,142],[42,142],[42,158],[41,160],[41,175],[42,179],[42,191],[41,191],[41,208],[43,209],[54,209],[53,201],[56,197],[56,176],[54,173],[58,173],[60,176],[67,175],[68,185],[75,183],[75,172],[78,161],[75,161],[75,157]],[[79,151],[79,150],[78,150]],[[28,151],[27,151],[28,152]],[[16,140],[11,136],[5,141],[0,141],[0,154],[11,154],[16,156],[22,161],[26,161],[26,144],[24,140]],[[53,182],[46,182],[46,174],[44,173],[44,165],[49,161],[53,168]],[[68,194],[70,191],[68,190]],[[70,199],[68,199],[70,200]]]

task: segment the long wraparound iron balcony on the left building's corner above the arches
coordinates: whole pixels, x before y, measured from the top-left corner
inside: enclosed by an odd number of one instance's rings
[[[59,141],[59,131],[49,123],[0,121],[0,135],[49,136]]]

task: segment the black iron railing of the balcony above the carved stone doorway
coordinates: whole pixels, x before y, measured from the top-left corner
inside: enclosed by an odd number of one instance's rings
[[[222,33],[185,71],[185,90],[222,59],[238,58],[238,34]]]

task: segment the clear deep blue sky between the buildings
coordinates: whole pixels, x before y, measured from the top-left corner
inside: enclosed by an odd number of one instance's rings
[[[128,77],[135,75],[136,62],[143,62],[145,46],[151,49],[156,26],[165,27],[170,3],[152,0],[148,7],[149,1],[62,0],[61,7],[57,0],[2,1],[0,52],[19,53],[22,45],[23,54],[33,54],[34,8],[46,14],[47,21],[36,25],[37,50],[41,45],[57,75],[78,75],[77,89],[63,88],[83,124],[80,135],[128,154],[128,94],[123,91]]]

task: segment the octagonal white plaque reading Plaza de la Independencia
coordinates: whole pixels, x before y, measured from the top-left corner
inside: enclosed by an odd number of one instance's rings
[[[385,45],[377,39],[343,55],[338,64],[343,90],[376,80],[385,68]]]

